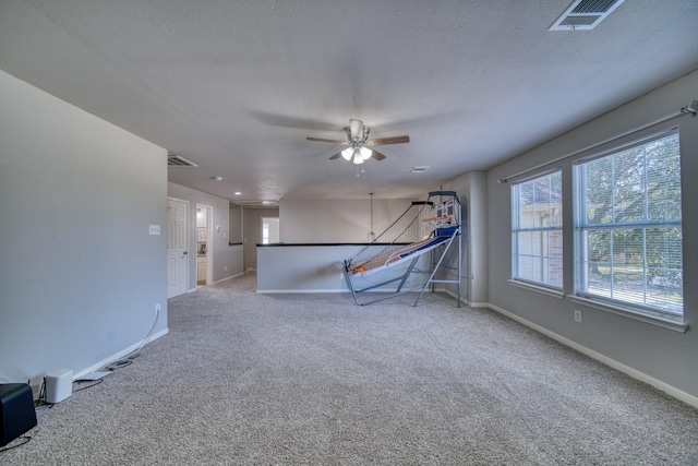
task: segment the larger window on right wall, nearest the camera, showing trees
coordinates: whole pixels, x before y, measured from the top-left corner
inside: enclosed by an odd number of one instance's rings
[[[575,291],[683,315],[678,133],[574,166]]]

